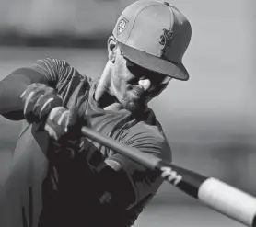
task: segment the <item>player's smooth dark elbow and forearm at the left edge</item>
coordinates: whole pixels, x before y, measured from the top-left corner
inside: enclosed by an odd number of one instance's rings
[[[7,119],[23,119],[19,96],[33,83],[47,84],[47,81],[41,74],[27,68],[17,69],[0,81],[0,114]]]

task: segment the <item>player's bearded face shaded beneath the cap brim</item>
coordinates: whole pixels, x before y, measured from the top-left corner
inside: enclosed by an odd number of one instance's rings
[[[137,111],[158,96],[168,85],[170,78],[146,70],[122,56],[117,49],[112,64],[111,85],[114,95],[123,108]]]

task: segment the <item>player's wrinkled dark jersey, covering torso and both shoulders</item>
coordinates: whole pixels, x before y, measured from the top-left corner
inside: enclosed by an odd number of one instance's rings
[[[170,160],[169,143],[153,110],[146,108],[139,117],[134,117],[126,109],[99,108],[94,99],[99,79],[91,80],[67,62],[55,59],[40,60],[14,74],[26,74],[33,81],[38,78],[53,86],[63,96],[67,108],[76,94],[79,112],[93,130],[140,152]],[[88,83],[78,86],[85,78]],[[77,87],[82,87],[81,91],[77,92]],[[1,95],[17,98],[17,94]],[[0,109],[3,116],[22,119],[18,101],[10,102],[9,106]],[[163,182],[157,171],[87,138],[76,157],[69,158],[63,153],[56,151],[51,138],[38,125],[29,125],[24,120],[6,181],[6,227],[131,226]],[[106,164],[113,165],[109,168]]]

